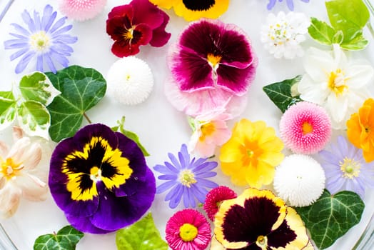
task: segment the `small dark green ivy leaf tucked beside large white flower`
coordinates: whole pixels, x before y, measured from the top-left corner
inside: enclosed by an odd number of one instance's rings
[[[274,84],[269,84],[263,87],[263,91],[269,96],[276,106],[284,113],[288,107],[301,101],[300,94],[293,95],[292,86],[301,80],[301,76],[296,76],[293,79],[287,79]]]

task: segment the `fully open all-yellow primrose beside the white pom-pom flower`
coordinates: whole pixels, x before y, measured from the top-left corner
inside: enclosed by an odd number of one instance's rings
[[[273,181],[274,167],[283,160],[283,142],[276,131],[264,121],[242,119],[233,128],[233,134],[221,147],[223,174],[231,176],[238,186],[261,187]]]

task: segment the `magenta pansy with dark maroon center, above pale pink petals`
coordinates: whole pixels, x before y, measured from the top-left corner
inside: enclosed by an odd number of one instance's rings
[[[256,56],[246,33],[235,24],[201,19],[191,23],[169,51],[178,89],[222,89],[246,94],[256,72]]]

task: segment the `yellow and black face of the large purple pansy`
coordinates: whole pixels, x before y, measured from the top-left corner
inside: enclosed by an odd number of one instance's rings
[[[125,184],[133,170],[119,149],[113,149],[106,139],[94,136],[82,151],[73,151],[65,157],[62,172],[67,176],[66,189],[71,199],[89,201],[98,196],[98,181],[112,190]]]

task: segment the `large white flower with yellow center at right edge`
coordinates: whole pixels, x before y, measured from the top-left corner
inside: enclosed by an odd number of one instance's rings
[[[338,44],[333,51],[310,48],[305,56],[306,74],[298,84],[300,98],[323,106],[333,129],[344,129],[350,114],[368,98],[365,86],[373,78],[369,64],[348,61]]]

